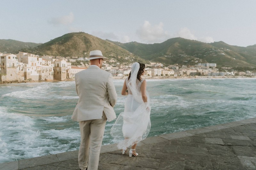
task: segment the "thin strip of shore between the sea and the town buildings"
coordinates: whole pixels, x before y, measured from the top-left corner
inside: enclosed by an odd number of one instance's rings
[[[123,76],[123,77],[117,77],[114,76],[113,79],[114,80],[123,80],[126,79],[128,76]],[[246,77],[246,76],[184,76],[184,77],[164,77],[164,76],[155,76],[155,77],[148,77],[148,76],[142,76],[142,78],[144,79],[204,79],[204,78],[211,78],[211,79],[215,79],[215,78],[256,78],[254,77]],[[67,80],[52,80],[52,81],[43,81],[43,80],[24,80],[24,81],[9,81],[9,82],[0,82],[1,84],[19,84],[19,83],[42,83],[42,82],[60,82],[60,81],[75,81],[75,78],[72,79],[67,79]]]

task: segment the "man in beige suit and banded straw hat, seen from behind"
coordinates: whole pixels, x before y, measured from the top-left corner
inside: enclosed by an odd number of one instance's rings
[[[81,143],[78,152],[78,163],[81,170],[97,170],[100,148],[108,122],[116,118],[113,107],[117,94],[112,75],[101,70],[103,57],[100,50],[90,52],[90,67],[76,73],[76,92],[79,100],[72,115],[79,122]]]

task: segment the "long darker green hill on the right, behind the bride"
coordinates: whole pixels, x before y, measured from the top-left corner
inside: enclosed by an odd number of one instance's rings
[[[143,59],[166,64],[217,63],[225,67],[256,67],[255,45],[238,47],[223,41],[204,43],[180,37],[155,44],[111,42]]]

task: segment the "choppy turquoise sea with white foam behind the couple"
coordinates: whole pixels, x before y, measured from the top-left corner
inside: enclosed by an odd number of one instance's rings
[[[256,78],[146,79],[157,136],[256,117]],[[124,80],[114,108],[124,111]],[[75,81],[0,84],[0,163],[79,149]],[[112,144],[107,122],[103,145]]]

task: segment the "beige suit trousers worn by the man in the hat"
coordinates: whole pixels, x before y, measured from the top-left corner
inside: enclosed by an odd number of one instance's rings
[[[104,135],[107,117],[80,121],[81,143],[78,152],[78,164],[81,170],[97,170],[100,159],[100,148]]]

